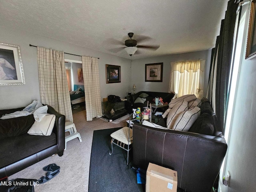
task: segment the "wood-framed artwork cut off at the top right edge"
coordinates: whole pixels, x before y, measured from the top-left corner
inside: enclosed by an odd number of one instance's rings
[[[252,1],[245,59],[256,56],[256,0]]]

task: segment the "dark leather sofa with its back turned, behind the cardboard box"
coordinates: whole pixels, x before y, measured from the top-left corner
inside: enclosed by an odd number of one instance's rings
[[[205,110],[202,106],[201,110]],[[206,113],[201,114],[207,116]],[[203,120],[203,126],[204,126]],[[208,121],[212,135],[195,132],[196,122],[188,132],[133,126],[133,163],[147,169],[149,162],[176,170],[178,187],[186,192],[211,192],[226,154],[227,144],[217,129],[216,116]],[[206,128],[208,129],[208,128]],[[199,132],[202,132],[199,128]]]

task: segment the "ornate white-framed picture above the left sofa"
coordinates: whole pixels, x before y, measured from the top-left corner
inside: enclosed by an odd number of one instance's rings
[[[0,86],[25,84],[20,46],[0,43]]]

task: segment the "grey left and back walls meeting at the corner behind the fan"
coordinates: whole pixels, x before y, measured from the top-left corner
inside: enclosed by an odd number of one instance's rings
[[[133,84],[136,84],[137,91],[148,90],[168,92],[170,62],[206,59],[206,66],[209,66],[211,53],[210,50],[206,50],[194,53],[134,60],[132,61],[131,68],[131,60],[16,29],[1,28],[0,42],[20,46],[26,81],[25,85],[0,86],[0,109],[22,107],[30,104],[32,100],[40,100],[37,49],[35,47],[30,47],[29,44],[52,48],[71,54],[99,57],[101,98],[105,98],[110,94],[124,98],[124,96],[128,94],[128,91],[132,91]],[[65,58],[81,61],[81,57],[69,54],[65,54]],[[157,62],[164,63],[163,82],[145,82],[145,64]],[[121,66],[120,83],[106,84],[106,64]],[[207,67],[206,71],[208,71]],[[205,75],[205,79],[208,81],[208,74]]]

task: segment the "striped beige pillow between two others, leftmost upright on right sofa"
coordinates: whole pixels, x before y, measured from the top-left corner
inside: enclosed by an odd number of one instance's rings
[[[167,128],[172,129],[176,119],[178,118],[179,114],[188,109],[188,102],[186,100],[182,100],[178,102],[169,112],[167,116]]]

